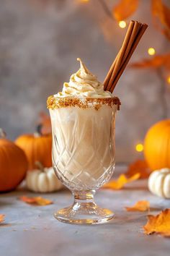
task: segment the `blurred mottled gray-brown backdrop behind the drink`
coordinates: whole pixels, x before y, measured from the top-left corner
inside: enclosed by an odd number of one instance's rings
[[[48,95],[61,90],[79,68],[78,56],[104,80],[125,30],[103,2],[0,0],[0,127],[10,139],[34,132]],[[116,2],[105,1],[109,10]],[[131,62],[147,58],[151,46],[158,54],[169,50],[152,25],[149,1],[140,2],[132,19],[147,22],[149,28]],[[135,144],[143,142],[151,124],[169,116],[169,88],[154,70],[126,69],[115,89],[122,101],[116,121],[117,162],[141,156]]]

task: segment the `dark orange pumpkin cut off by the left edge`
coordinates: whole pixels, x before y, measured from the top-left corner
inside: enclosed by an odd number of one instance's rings
[[[27,157],[0,129],[0,192],[15,189],[27,172]]]

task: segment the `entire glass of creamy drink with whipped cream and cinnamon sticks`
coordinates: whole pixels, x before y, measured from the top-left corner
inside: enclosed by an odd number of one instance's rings
[[[78,72],[64,83],[62,92],[48,98],[53,168],[74,197],[71,206],[54,214],[59,221],[95,224],[114,217],[112,210],[94,202],[94,194],[115,168],[115,114],[120,100],[112,92],[146,28],[146,24],[130,22],[104,85],[78,59]]]

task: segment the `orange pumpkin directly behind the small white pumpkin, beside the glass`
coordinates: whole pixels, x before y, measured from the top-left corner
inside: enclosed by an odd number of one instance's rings
[[[38,131],[33,135],[21,135],[17,138],[15,143],[24,150],[27,155],[28,168],[33,170],[36,168],[35,162],[39,161],[45,167],[52,166],[52,136],[42,135],[38,127]]]

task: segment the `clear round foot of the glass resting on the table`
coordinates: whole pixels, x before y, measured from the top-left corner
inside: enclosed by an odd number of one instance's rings
[[[99,224],[110,221],[115,215],[111,210],[99,208],[95,202],[74,202],[71,207],[58,210],[54,216],[65,223]]]

